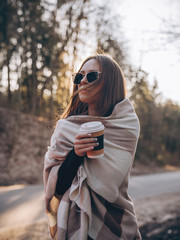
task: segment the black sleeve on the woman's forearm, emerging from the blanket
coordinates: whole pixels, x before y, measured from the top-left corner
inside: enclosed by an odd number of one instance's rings
[[[69,152],[58,171],[56,193],[63,195],[70,188],[72,181],[84,157],[76,155],[74,148]]]

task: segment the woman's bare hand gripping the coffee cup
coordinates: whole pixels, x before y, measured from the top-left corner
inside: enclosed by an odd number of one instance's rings
[[[98,146],[97,138],[91,137],[90,133],[81,133],[75,137],[74,151],[78,156],[85,156],[87,152],[92,151],[95,146]]]

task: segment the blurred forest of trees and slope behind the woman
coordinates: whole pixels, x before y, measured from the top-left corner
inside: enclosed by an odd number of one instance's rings
[[[148,73],[130,65],[121,17],[107,2],[1,0],[0,184],[42,180],[53,126],[70,100],[71,74],[97,52],[121,66],[139,117],[135,166],[179,167],[180,106],[162,101],[156,79],[150,85]]]

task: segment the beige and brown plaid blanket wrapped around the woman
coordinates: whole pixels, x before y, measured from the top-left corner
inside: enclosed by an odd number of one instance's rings
[[[104,157],[85,157],[71,187],[55,194],[58,169],[73,148],[80,125],[101,121],[105,126]],[[139,121],[126,98],[111,116],[71,116],[57,122],[45,155],[44,186],[52,239],[141,239],[131,198],[130,169],[139,137]]]

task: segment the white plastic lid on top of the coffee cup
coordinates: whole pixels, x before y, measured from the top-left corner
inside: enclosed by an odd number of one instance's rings
[[[83,123],[80,127],[81,132],[87,132],[87,133],[93,133],[93,132],[101,131],[103,129],[104,129],[104,125],[98,121]]]

